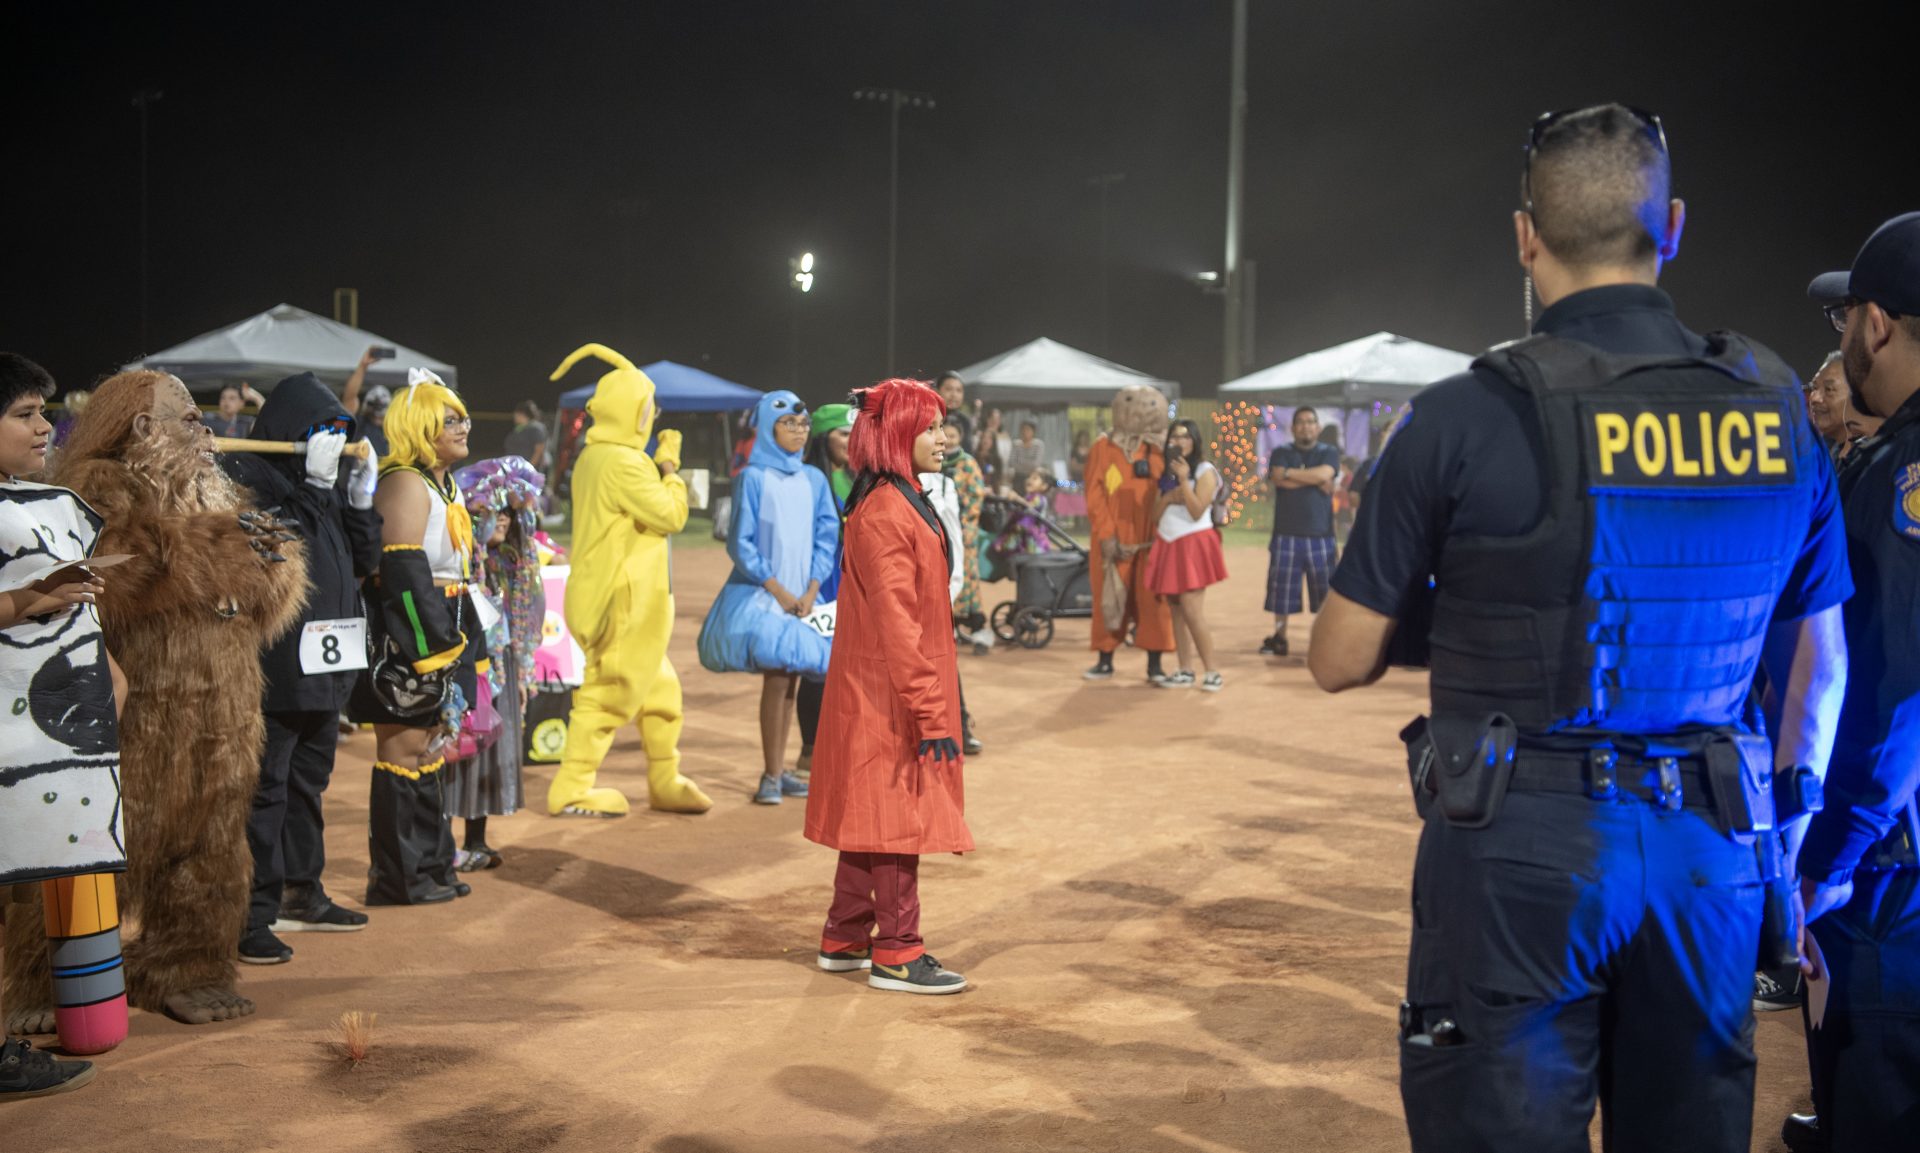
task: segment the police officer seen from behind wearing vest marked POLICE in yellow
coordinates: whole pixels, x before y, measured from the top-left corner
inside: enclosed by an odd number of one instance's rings
[[[1793,372],[1655,288],[1682,223],[1659,117],[1534,123],[1515,234],[1546,311],[1413,401],[1313,625],[1327,691],[1430,666],[1417,1151],[1584,1151],[1596,1099],[1615,1149],[1747,1149],[1770,892],[1793,940],[1766,785],[1826,767],[1851,585]],[[1745,716],[1763,647],[1778,752]]]

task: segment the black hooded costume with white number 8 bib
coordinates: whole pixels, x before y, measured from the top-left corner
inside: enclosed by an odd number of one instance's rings
[[[275,386],[250,439],[305,441],[311,430],[328,422],[344,422],[348,439],[355,439],[340,397],[311,372],[301,372]],[[340,478],[326,489],[307,483],[305,457],[298,455],[228,453],[221,464],[259,506],[278,508],[282,518],[296,522],[307,545],[307,606],[300,624],[261,654],[267,744],[248,817],[253,900],[246,929],[313,927],[332,904],[321,888],[326,863],[321,794],[334,771],[340,710],[359,673],[309,673],[301,668],[300,645],[313,622],[365,620],[359,585],[380,564],[380,514],[348,503],[349,457],[340,459]]]

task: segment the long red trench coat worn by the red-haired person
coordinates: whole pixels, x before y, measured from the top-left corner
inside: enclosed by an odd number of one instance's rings
[[[947,553],[906,495],[881,485],[847,518],[806,838],[841,852],[972,850],[960,762],[920,764],[935,737],[960,742]]]

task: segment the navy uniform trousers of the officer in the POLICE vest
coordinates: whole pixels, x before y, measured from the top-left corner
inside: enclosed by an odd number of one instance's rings
[[[1763,906],[1753,848],[1707,810],[1519,790],[1486,829],[1434,810],[1400,1044],[1413,1149],[1586,1153],[1597,1101],[1609,1149],[1745,1153]]]

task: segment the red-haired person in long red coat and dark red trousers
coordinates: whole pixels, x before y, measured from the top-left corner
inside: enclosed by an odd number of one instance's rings
[[[914,380],[854,393],[839,620],[814,742],[806,838],[839,850],[820,967],[872,988],[954,994],[920,942],[922,854],[966,852],[950,549],[916,480],[939,472],[945,405]]]

